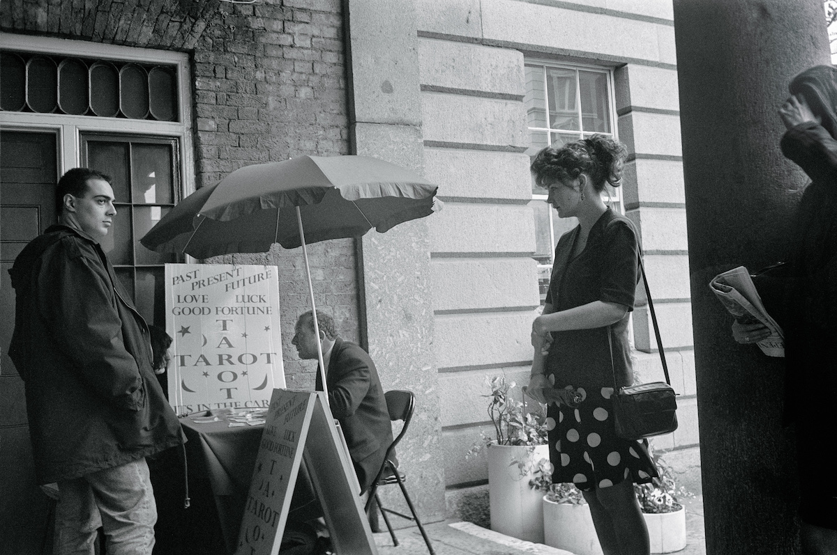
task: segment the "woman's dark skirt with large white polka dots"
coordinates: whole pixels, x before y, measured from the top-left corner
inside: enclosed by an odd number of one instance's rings
[[[654,463],[639,441],[624,440],[614,431],[610,395],[614,388],[587,391],[578,408],[549,405],[549,458],[552,481],[573,482],[582,491],[618,484],[627,478],[644,484],[657,476]]]

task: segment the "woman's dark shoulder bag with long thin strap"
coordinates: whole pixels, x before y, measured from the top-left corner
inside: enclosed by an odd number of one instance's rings
[[[645,285],[645,295],[648,298],[651,321],[654,323],[657,347],[660,349],[660,360],[663,363],[665,382],[650,382],[619,388],[616,381],[616,369],[614,368],[613,339],[610,337],[610,327],[608,326],[610,369],[614,374],[614,395],[611,397],[614,406],[614,425],[616,435],[626,440],[641,440],[652,435],[668,434],[677,429],[676,394],[671,387],[669,369],[665,364],[665,351],[660,340],[660,327],[657,325],[657,316],[648,288],[648,279],[645,277],[642,257],[639,257],[639,269],[642,272],[642,282]]]

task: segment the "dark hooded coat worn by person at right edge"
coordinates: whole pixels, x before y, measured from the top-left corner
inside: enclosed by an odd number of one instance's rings
[[[782,152],[811,178],[800,201],[785,292],[786,415],[804,442],[837,429],[837,71],[817,66],[790,84],[821,119],[788,130]],[[808,435],[811,435],[808,437]]]

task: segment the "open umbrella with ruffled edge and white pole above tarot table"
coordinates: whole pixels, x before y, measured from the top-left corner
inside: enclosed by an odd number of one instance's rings
[[[437,186],[412,171],[367,156],[300,156],[247,165],[174,206],[140,242],[156,252],[207,258],[302,247],[316,319],[307,242],[386,232],[441,209]],[[323,388],[322,350],[317,342]]]

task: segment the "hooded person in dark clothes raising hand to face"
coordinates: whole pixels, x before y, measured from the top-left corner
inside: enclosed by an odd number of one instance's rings
[[[815,66],[790,83],[779,109],[783,155],[811,178],[798,206],[783,295],[785,415],[796,426],[806,555],[837,553],[837,69]],[[741,344],[766,339],[762,323],[734,323]]]

